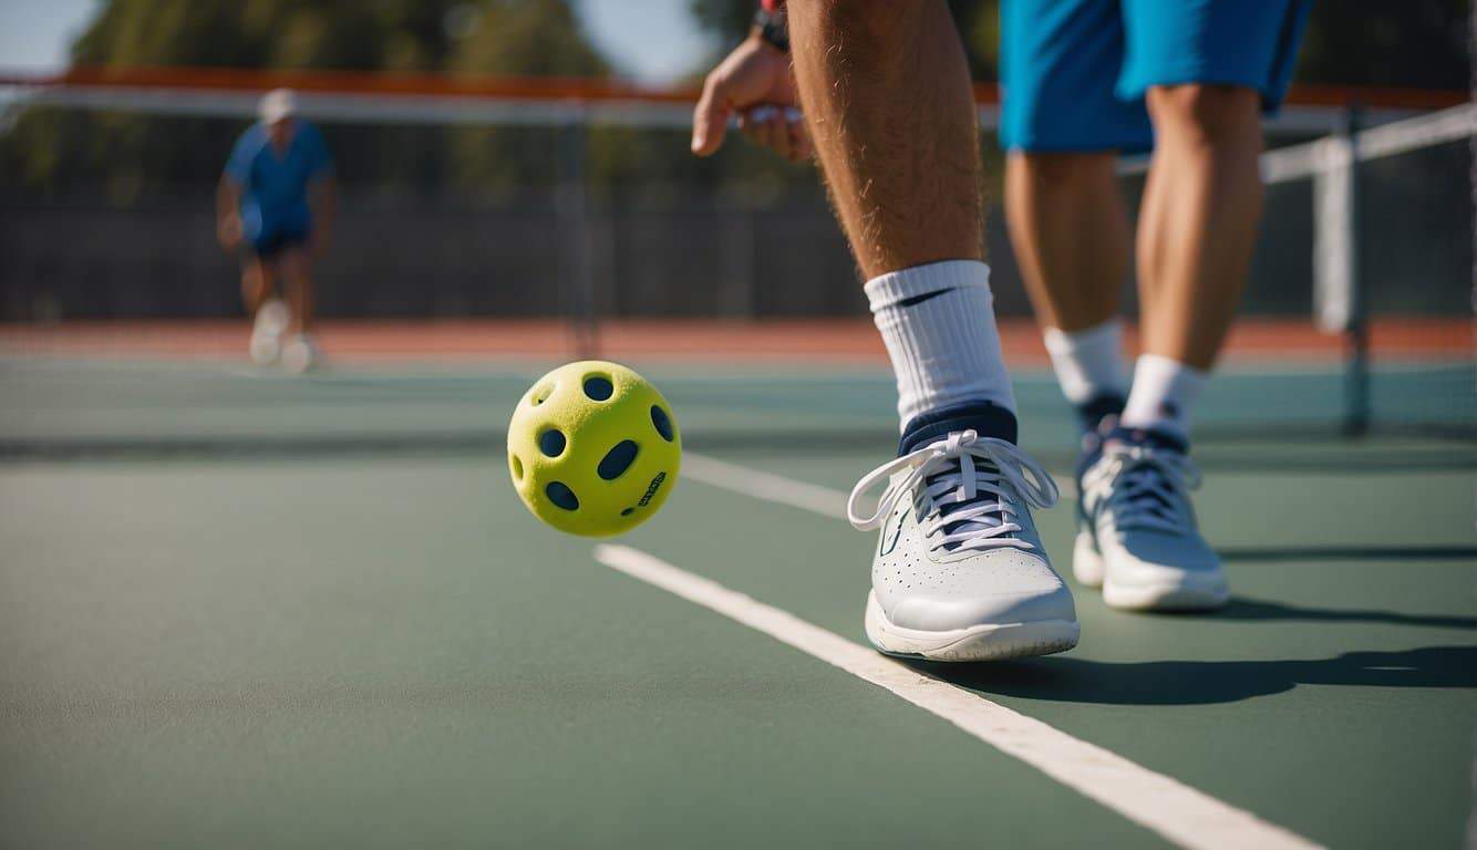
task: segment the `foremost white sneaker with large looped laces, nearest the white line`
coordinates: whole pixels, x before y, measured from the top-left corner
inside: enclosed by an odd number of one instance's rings
[[[876,514],[858,499],[888,480]],[[857,483],[851,524],[882,528],[867,598],[867,638],[889,655],[985,661],[1077,645],[1072,595],[1052,570],[1029,508],[1056,483],[1021,449],[954,431]]]

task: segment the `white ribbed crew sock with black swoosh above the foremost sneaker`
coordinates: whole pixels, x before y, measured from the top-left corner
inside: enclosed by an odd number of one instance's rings
[[[1015,394],[1000,354],[990,266],[948,260],[867,280],[867,301],[898,376],[898,416],[964,401],[1012,413]]]

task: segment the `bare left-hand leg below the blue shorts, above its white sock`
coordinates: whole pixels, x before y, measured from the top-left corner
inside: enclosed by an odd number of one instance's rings
[[[1012,152],[1006,218],[1037,322],[1074,332],[1118,313],[1131,236],[1112,153]]]

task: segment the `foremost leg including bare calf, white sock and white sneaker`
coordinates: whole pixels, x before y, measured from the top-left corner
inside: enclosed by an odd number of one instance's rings
[[[1080,629],[1071,590],[1019,521],[1056,488],[1027,484],[1049,477],[1016,447],[984,263],[978,118],[948,6],[789,10],[801,103],[898,378],[902,457],[848,502],[858,528],[897,528],[874,555],[867,636],[883,652],[953,661],[1068,649]],[[858,496],[883,481],[864,518]],[[950,543],[942,564],[935,552]]]

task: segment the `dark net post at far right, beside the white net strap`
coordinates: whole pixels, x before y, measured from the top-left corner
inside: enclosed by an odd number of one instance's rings
[[[1359,130],[1363,109],[1357,102],[1344,108],[1340,136],[1344,140],[1349,190],[1344,195],[1347,207],[1347,251],[1349,251],[1349,320],[1344,328],[1347,360],[1344,369],[1344,424],[1346,437],[1363,437],[1369,432],[1369,310],[1363,286],[1363,239],[1359,208]]]

